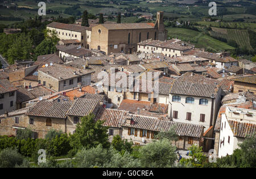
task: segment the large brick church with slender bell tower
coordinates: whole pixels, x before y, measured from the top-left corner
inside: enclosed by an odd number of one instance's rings
[[[110,53],[135,53],[137,43],[147,40],[166,40],[163,12],[158,12],[156,23],[99,24],[92,27],[91,48]]]

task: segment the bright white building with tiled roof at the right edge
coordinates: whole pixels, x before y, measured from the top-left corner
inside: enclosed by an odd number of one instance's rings
[[[218,157],[232,155],[247,135],[256,131],[256,110],[226,107],[221,114]]]

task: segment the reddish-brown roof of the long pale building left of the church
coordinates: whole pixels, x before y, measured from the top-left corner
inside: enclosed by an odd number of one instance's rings
[[[52,22],[52,23],[48,24],[47,27],[65,29],[65,30],[76,31],[76,32],[82,32],[82,31],[86,31],[86,30],[92,31],[92,28],[90,28],[90,27],[84,27],[84,26],[75,25],[75,24],[57,23],[57,22]]]

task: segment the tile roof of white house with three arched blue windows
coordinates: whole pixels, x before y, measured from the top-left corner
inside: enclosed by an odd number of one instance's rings
[[[211,84],[175,80],[170,93],[176,95],[216,97],[216,86]]]

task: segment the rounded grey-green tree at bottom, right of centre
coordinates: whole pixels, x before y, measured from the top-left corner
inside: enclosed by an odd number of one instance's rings
[[[172,167],[177,160],[176,147],[167,139],[156,140],[143,146],[139,152],[142,167],[163,168]]]

